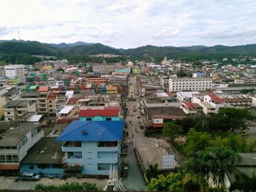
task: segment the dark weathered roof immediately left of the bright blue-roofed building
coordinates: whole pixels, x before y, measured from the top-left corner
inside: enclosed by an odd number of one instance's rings
[[[43,137],[31,147],[21,164],[61,164],[64,153],[61,143],[55,142],[53,137]]]

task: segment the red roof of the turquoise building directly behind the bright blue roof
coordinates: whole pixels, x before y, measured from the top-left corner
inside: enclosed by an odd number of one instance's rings
[[[79,117],[118,117],[119,110],[80,110]]]

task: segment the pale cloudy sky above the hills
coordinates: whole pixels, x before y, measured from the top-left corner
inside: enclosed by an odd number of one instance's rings
[[[144,45],[256,43],[255,0],[0,0],[0,39]]]

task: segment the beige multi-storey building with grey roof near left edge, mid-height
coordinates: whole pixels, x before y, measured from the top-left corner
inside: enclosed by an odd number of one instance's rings
[[[35,112],[36,104],[33,101],[9,101],[4,105],[4,120],[25,123]]]

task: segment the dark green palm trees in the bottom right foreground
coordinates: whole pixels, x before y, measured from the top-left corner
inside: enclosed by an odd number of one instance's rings
[[[200,185],[200,191],[208,191],[209,181],[213,180],[217,188],[224,191],[226,174],[236,172],[238,162],[241,162],[241,157],[229,147],[200,150],[184,164],[184,183],[192,180]]]

